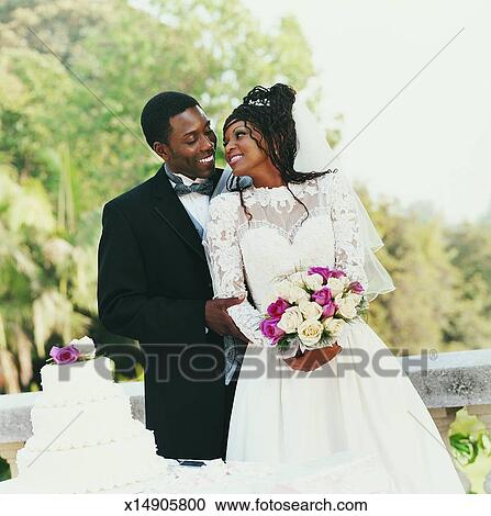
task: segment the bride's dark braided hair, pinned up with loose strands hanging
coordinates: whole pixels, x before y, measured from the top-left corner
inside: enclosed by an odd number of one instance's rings
[[[302,183],[314,178],[331,173],[332,170],[322,172],[300,172],[294,169],[297,156],[297,131],[292,109],[295,101],[295,90],[280,82],[264,88],[256,86],[243,99],[243,103],[232,111],[223,125],[223,134],[234,122],[245,122],[250,137],[257,146],[270,158],[272,165],[280,172],[293,198],[302,204],[308,213],[309,210],[290,190],[289,183]],[[260,133],[261,139],[257,139],[250,130],[250,124]],[[241,192],[241,204],[244,206],[239,178],[231,176],[227,184],[228,190]],[[246,211],[247,216],[250,214]]]

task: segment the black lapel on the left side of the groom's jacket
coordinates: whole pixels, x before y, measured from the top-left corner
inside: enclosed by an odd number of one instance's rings
[[[164,167],[154,176],[154,211],[203,261],[207,261],[201,238],[194,224],[179,201],[164,171]]]

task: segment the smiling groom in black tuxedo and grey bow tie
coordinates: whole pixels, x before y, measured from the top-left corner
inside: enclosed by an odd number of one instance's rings
[[[201,244],[223,172],[216,136],[198,101],[175,91],[152,98],[141,124],[165,164],[104,206],[99,316],[110,332],[141,344],[146,426],[158,453],[224,458],[235,381],[224,382],[223,336],[246,339],[226,313],[242,300],[213,300]]]

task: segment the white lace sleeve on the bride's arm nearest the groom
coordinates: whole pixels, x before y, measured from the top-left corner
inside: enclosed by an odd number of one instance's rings
[[[261,314],[248,302],[244,267],[237,238],[238,209],[234,193],[224,193],[210,203],[204,247],[213,279],[214,298],[246,299],[227,312],[238,329],[253,345],[266,346],[269,341],[259,329]]]

